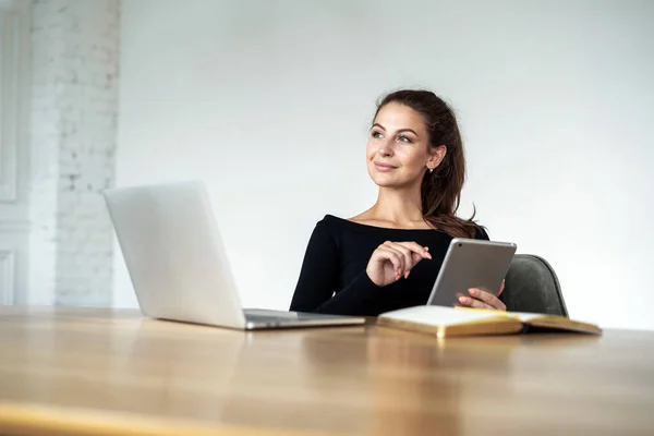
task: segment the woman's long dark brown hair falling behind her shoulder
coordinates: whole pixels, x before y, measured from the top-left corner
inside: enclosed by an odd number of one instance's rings
[[[377,105],[377,111],[388,104],[407,106],[420,113],[428,133],[428,146],[447,147],[447,153],[434,172],[426,172],[421,185],[422,213],[425,221],[452,238],[475,238],[482,227],[457,217],[461,190],[465,181],[463,142],[453,110],[429,90],[401,89],[388,94]]]

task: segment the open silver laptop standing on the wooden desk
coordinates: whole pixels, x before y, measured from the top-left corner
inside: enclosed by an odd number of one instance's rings
[[[241,330],[364,324],[354,316],[243,310],[204,183],[102,192],[141,312]]]

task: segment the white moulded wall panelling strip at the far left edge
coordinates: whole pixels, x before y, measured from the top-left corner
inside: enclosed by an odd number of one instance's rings
[[[29,9],[0,1],[0,305],[20,304],[28,269]]]

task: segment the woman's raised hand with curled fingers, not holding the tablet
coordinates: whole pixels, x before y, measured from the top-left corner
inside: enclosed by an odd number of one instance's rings
[[[386,241],[373,252],[365,271],[378,287],[409,277],[411,269],[423,258],[432,258],[429,249],[415,242]]]

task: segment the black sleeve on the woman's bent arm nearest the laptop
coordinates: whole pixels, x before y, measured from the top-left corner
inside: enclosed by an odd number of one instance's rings
[[[308,241],[290,311],[360,314],[379,288],[363,270],[338,291],[339,276],[338,246],[323,220],[316,225]]]

